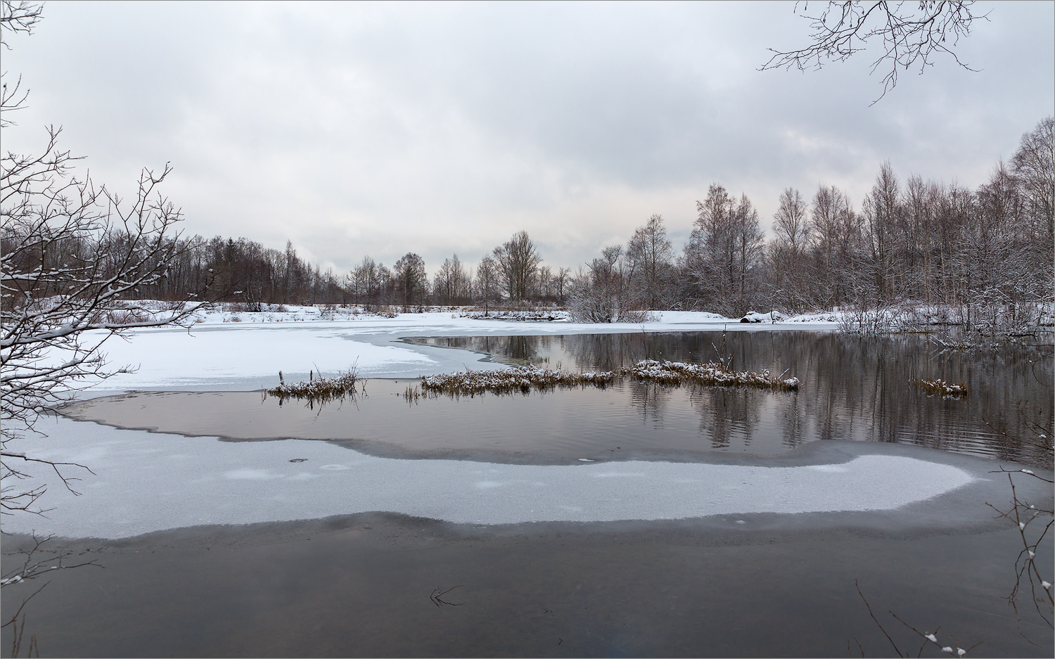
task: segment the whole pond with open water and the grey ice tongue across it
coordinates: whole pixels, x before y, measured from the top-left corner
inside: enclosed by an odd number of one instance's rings
[[[41,654],[842,656],[851,639],[889,654],[859,582],[904,647],[915,635],[885,612],[984,641],[972,656],[1050,655],[1050,628],[1001,599],[1021,545],[985,505],[1010,498],[993,469],[1050,464],[1017,439],[1050,424],[1041,349],[778,331],[391,338],[369,345],[406,364],[723,356],[803,384],[407,401],[419,381],[382,379],[322,407],[258,391],[74,404],[36,454],[95,473],[74,496],[41,471],[55,509],[5,520],[106,567],[34,599]],[[927,396],[914,377],[972,392]],[[1018,478],[1050,507],[1050,486]],[[5,536],[5,551],[23,542]],[[1040,550],[1051,574],[1050,539]],[[23,590],[5,587],[4,609]]]

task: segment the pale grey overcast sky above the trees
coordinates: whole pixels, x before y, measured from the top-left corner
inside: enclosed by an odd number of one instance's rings
[[[715,181],[766,227],[786,187],[859,206],[884,159],[976,186],[1053,113],[1051,2],[979,2],[957,49],[978,73],[939,58],[871,105],[868,53],[757,71],[805,43],[793,7],[50,1],[2,54],[31,89],[3,148],[61,124],[126,191],[169,161],[186,231],[338,270],[416,251],[434,271],[520,229],[574,268],[653,213],[679,247]]]

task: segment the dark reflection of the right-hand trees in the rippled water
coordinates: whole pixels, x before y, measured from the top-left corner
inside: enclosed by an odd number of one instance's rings
[[[799,392],[692,386],[678,391],[627,381],[642,421],[663,424],[673,395],[688,395],[701,433],[716,448],[749,444],[761,423],[785,445],[812,440],[910,443],[1050,466],[1055,405],[1052,348],[1004,344],[950,351],[926,336],[853,336],[820,332],[674,332],[415,340],[488,352],[499,361],[558,362],[571,370],[615,370],[640,360],[716,362],[799,377]],[[964,381],[963,399],[909,388],[915,377]],[[766,408],[770,408],[766,413]],[[1049,440],[1050,441],[1050,440]]]

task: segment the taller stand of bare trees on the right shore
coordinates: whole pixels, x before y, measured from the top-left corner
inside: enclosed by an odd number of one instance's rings
[[[966,325],[1016,324],[1053,297],[1055,139],[1051,117],[1022,136],[977,189],[909,176],[884,162],[860,209],[835,186],[783,191],[772,236],[746,195],[712,185],[678,254],[653,216],[605,248],[576,290],[582,315],[631,319],[688,308],[738,316],[941,305]],[[997,311],[998,310],[998,311]]]

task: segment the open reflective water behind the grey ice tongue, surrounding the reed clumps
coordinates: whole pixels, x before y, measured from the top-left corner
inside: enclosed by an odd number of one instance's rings
[[[548,462],[629,451],[772,456],[817,440],[916,444],[1049,467],[1038,443],[1053,423],[1051,350],[1010,346],[943,351],[925,337],[812,332],[715,332],[417,338],[513,363],[616,370],[642,358],[716,361],[787,372],[798,392],[666,387],[619,381],[605,389],[452,399],[402,394],[417,381],[375,380],[366,395],[325,406],[253,392],[135,393],[64,410],[126,428],[232,439],[348,441],[386,456],[463,453]],[[928,395],[913,379],[964,381],[962,399]]]

